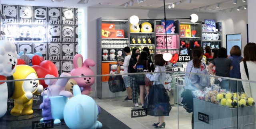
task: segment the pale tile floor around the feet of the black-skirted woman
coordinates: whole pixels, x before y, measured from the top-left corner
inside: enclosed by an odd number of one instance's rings
[[[152,116],[146,117],[137,117],[131,118],[131,110],[141,108],[141,103],[139,100],[140,106],[134,107],[132,102],[123,102],[124,98],[113,98],[100,100],[95,98],[96,103],[108,111],[114,117],[122,121],[128,127],[132,129],[154,129],[152,126],[156,122],[157,118]],[[179,108],[179,111],[178,111]],[[178,120],[179,115],[179,120]],[[182,106],[172,106],[170,115],[164,118],[166,122],[166,129],[191,129],[191,117],[192,113],[187,113]],[[179,123],[178,123],[179,122]],[[178,128],[179,125],[179,128]]]

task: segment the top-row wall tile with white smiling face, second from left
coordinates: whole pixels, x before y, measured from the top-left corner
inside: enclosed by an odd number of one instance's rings
[[[19,6],[19,21],[20,23],[33,22],[31,6]]]

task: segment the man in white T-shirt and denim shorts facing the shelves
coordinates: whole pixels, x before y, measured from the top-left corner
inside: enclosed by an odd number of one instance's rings
[[[127,55],[126,57],[124,57],[124,62],[118,61],[118,64],[124,66],[124,74],[126,74],[128,73],[129,62],[132,57],[130,47],[124,47],[124,53]],[[128,96],[123,101],[132,101],[132,88],[130,84],[130,76],[124,75],[124,85],[126,87]]]

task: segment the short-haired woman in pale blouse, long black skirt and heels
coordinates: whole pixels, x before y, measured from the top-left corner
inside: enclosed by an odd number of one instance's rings
[[[154,56],[154,62],[156,64],[156,68],[154,70],[154,72],[164,72],[164,73],[154,73],[154,74],[146,74],[146,77],[149,78],[150,81],[154,81],[154,84],[163,84],[164,85],[164,80],[166,79],[166,69],[165,69],[165,63],[166,61],[164,61],[163,59],[163,55],[162,54],[157,54]],[[159,70],[159,68],[161,70]],[[161,74],[161,76],[160,76]],[[150,92],[150,91],[149,91]],[[164,94],[164,93],[162,93]],[[157,97],[157,96],[154,96]],[[161,128],[162,126],[165,127],[165,122],[164,122],[164,116],[159,116],[158,117],[158,121],[156,121],[156,123],[154,123],[152,126],[155,126],[155,128]]]

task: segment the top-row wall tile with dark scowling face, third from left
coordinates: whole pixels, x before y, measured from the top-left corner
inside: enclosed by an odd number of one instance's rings
[[[34,7],[34,22],[47,23],[47,7]]]

